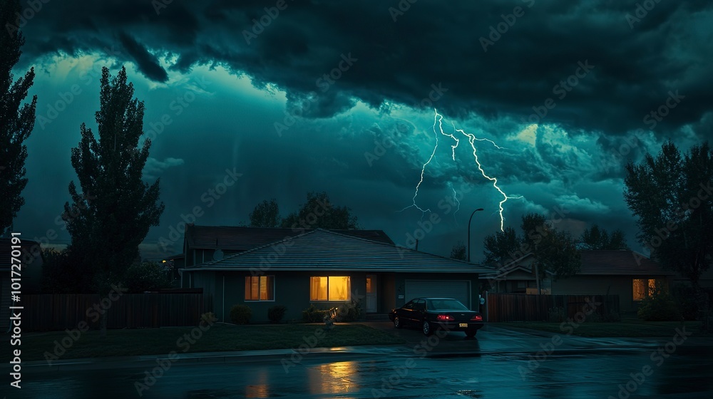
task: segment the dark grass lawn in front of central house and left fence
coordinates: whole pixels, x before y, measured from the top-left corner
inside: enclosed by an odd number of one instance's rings
[[[204,327],[205,328],[205,327]],[[404,343],[402,338],[361,324],[340,324],[332,330],[325,331],[324,324],[285,324],[279,326],[226,326],[214,324],[202,332],[195,327],[141,328],[125,330],[109,330],[106,340],[99,338],[99,331],[90,330],[82,333],[78,340],[73,341],[61,359],[97,358],[108,356],[138,356],[138,355],[168,355],[170,351],[177,353],[215,352],[215,351],[250,351],[262,349],[297,348],[303,343],[309,345],[317,342],[314,347],[355,346],[355,345],[386,345]],[[188,337],[194,343],[190,343]],[[56,343],[64,339],[70,342],[68,334],[63,331],[48,333],[29,333],[21,338],[22,361],[43,361],[44,353],[53,353]],[[0,343],[1,360],[10,361],[10,340],[3,339]],[[185,350],[185,351],[184,351]],[[61,346],[58,348],[61,353]]]

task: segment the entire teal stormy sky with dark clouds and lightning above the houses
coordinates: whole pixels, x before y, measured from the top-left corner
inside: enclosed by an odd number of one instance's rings
[[[713,136],[707,1],[37,4],[17,21],[15,75],[34,66],[38,100],[14,228],[48,244],[69,242],[70,152],[81,123],[96,131],[103,66],[125,66],[145,103],[144,177],[165,203],[145,257],[182,252],[175,229],[197,209],[197,224],[237,225],[262,199],[284,216],[326,191],[364,229],[446,256],[482,207],[479,261],[506,199],[486,176],[511,197],[505,227],[542,212],[640,249],[623,166]]]

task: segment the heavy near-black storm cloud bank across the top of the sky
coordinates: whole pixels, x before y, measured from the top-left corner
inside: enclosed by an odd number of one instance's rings
[[[276,84],[290,103],[316,94],[304,113],[314,117],[349,110],[352,98],[374,107],[384,100],[416,105],[438,83],[448,88],[438,107],[451,118],[477,113],[522,122],[551,98],[555,107],[541,120],[572,133],[646,128],[645,115],[679,90],[682,105],[655,129],[694,124],[705,134],[713,41],[712,6],[704,3],[652,2],[642,16],[635,1],[421,0],[403,14],[389,11],[396,1],[285,1],[275,15],[277,2],[265,1],[173,1],[156,10],[149,1],[64,1],[46,4],[30,21],[24,51],[122,45],[125,61],[156,81],[166,78],[162,56],[177,56],[167,68],[180,71],[222,64],[257,85]],[[492,33],[498,24],[504,32]],[[357,61],[346,66],[345,56]],[[583,63],[593,68],[578,70]]]

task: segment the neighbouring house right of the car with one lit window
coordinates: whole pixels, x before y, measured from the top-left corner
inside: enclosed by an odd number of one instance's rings
[[[648,288],[659,281],[670,286],[675,273],[660,264],[629,250],[583,250],[582,266],[567,279],[540,280],[543,294],[581,295],[610,294],[619,296],[622,312],[635,311],[648,294]],[[490,281],[491,292],[536,294],[537,281],[532,267],[532,254],[513,260],[495,273],[482,274]]]

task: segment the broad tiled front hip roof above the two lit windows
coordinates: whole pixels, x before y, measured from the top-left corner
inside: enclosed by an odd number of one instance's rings
[[[279,242],[184,269],[241,271],[414,271],[481,273],[492,269],[394,244],[314,229]]]

